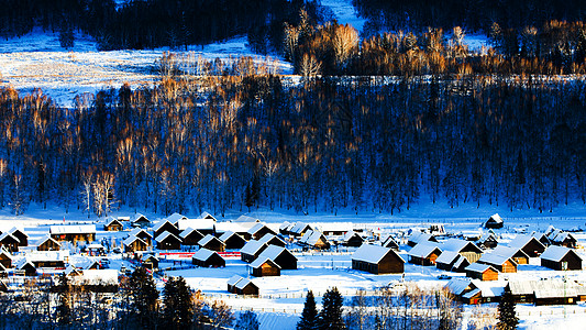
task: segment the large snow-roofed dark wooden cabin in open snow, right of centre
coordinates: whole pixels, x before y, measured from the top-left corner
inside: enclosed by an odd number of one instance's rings
[[[392,249],[362,244],[352,255],[352,270],[372,274],[400,274],[405,272],[405,260]]]

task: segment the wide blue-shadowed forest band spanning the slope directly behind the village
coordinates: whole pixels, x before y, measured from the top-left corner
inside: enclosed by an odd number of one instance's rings
[[[265,206],[549,211],[586,201],[584,79],[544,76],[166,78],[76,97],[0,89],[0,206],[102,216]],[[254,68],[252,68],[254,69]]]

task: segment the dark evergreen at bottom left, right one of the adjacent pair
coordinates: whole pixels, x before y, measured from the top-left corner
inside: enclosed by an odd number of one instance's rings
[[[163,324],[168,329],[189,329],[194,322],[194,302],[185,278],[169,278],[163,288]]]

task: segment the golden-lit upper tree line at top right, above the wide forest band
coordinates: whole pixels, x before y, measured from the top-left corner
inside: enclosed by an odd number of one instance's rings
[[[542,26],[506,29],[494,22],[494,47],[472,52],[465,31],[398,30],[361,38],[351,25],[316,25],[301,11],[285,25],[285,58],[303,76],[567,75],[586,73],[586,25],[548,21]]]

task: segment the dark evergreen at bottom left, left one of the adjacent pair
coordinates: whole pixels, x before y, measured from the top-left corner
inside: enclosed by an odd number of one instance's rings
[[[137,267],[129,278],[132,308],[143,326],[154,328],[158,307],[158,290],[155,280],[144,267]]]

